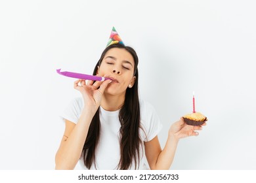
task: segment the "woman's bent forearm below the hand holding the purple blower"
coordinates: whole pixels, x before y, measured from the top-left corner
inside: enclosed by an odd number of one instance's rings
[[[89,114],[87,110],[81,112],[72,133],[56,154],[56,169],[74,169],[83,151],[92,118],[93,115]]]

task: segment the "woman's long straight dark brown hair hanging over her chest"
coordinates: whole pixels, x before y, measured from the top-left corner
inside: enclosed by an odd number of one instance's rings
[[[123,48],[127,50],[135,61],[134,76],[136,76],[135,84],[132,88],[127,88],[125,92],[125,101],[119,112],[119,121],[121,127],[119,133],[120,139],[120,160],[117,169],[126,170],[131,168],[134,161],[135,169],[137,169],[137,163],[140,161],[140,146],[142,145],[142,140],[139,135],[140,128],[140,105],[139,105],[139,92],[138,92],[138,56],[129,46],[123,46],[123,44],[112,44],[108,46],[103,52],[95,66],[93,75],[96,75],[98,67],[100,66],[102,59],[104,58],[106,52],[112,48]],[[93,163],[95,163],[95,151],[98,146],[98,141],[100,139],[100,112],[99,108],[91,121],[87,138],[83,146],[83,161],[88,169],[91,169]],[[96,167],[96,165],[95,165]]]

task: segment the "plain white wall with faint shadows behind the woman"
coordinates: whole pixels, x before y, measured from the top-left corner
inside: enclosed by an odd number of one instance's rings
[[[0,169],[54,169],[58,115],[80,96],[56,69],[93,73],[112,26],[137,51],[162,147],[193,91],[209,118],[171,169],[255,169],[255,17],[253,0],[1,1]]]

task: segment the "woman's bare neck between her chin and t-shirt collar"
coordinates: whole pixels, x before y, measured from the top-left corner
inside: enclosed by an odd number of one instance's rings
[[[121,95],[109,95],[104,93],[100,106],[108,111],[119,110],[125,103],[125,93]]]

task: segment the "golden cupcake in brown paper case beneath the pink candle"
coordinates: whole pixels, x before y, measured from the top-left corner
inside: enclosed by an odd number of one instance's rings
[[[200,112],[193,112],[191,114],[186,114],[182,117],[186,124],[188,125],[202,125],[207,121],[207,118],[203,116]]]

